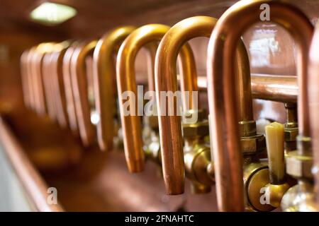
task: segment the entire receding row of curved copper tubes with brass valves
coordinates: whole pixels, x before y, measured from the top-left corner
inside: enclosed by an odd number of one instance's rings
[[[241,35],[260,21],[261,4],[269,4],[272,22],[295,40],[296,77],[250,73]],[[204,81],[197,76],[187,44],[195,37],[210,39]],[[137,93],[135,58],[143,47],[148,54],[148,89],[156,92],[157,111],[161,91],[207,88],[208,119],[200,104],[187,109],[189,115],[198,115],[196,123],[176,115],[143,117],[141,123],[140,116],[123,114],[125,101],[119,96],[127,90]],[[269,211],[279,206],[286,211],[318,210],[317,49],[319,27],[314,32],[295,6],[243,0],[219,19],[194,16],[172,28],[122,26],[99,40],[38,44],[21,56],[24,102],[69,128],[85,146],[97,142],[101,150],[112,150],[123,143],[130,172],[141,172],[145,158],[154,160],[162,166],[167,194],[182,194],[186,177],[195,193],[211,191],[216,184],[222,211]],[[252,98],[284,102],[286,124],[269,124],[266,137],[257,133]]]

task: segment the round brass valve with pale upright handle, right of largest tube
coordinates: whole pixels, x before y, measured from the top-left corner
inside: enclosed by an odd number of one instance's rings
[[[265,127],[267,162],[246,157],[244,186],[247,188],[246,210],[271,211],[280,206],[289,184],[285,182],[284,126],[273,122]]]

